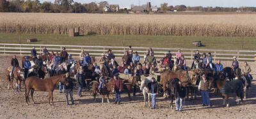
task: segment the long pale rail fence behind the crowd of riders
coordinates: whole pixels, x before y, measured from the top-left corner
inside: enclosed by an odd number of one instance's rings
[[[90,52],[90,55],[100,56],[101,53],[108,53],[108,49],[111,49],[113,53],[115,53],[116,57],[122,57],[124,52],[127,51],[126,46],[77,46],[77,45],[31,45],[31,44],[10,44],[10,43],[0,43],[0,53],[4,54],[30,54],[31,47],[35,46],[38,53],[42,53],[42,48],[44,46],[47,47],[47,50],[60,52],[63,47],[66,47],[68,53],[72,53],[72,55],[79,55],[81,50],[84,49],[85,52]],[[143,55],[143,53],[147,53],[147,47],[132,47],[134,51],[137,51],[139,55]],[[176,51],[179,48],[152,48],[154,50],[154,56],[156,58],[164,57],[164,53],[168,50],[171,50],[172,54],[175,55]],[[193,59],[193,55],[195,51],[198,49],[190,49],[190,48],[180,48],[182,50],[183,55],[186,59]],[[238,60],[247,60],[247,61],[256,61],[254,59],[256,51],[253,50],[213,50],[213,49],[199,49],[200,53],[202,52],[211,52],[212,58],[214,60],[232,60],[233,56],[236,56]],[[143,57],[141,57],[143,58]]]

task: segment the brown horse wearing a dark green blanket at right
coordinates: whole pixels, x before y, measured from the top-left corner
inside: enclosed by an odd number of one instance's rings
[[[227,107],[229,107],[229,102],[228,102],[228,94],[230,93],[236,93],[236,101],[237,104],[239,104],[239,98],[241,98],[241,101],[243,101],[243,83],[240,80],[231,80],[231,81],[226,81],[226,80],[220,80],[220,79],[210,79],[209,82],[209,88],[212,88],[214,83],[216,83],[217,87],[219,90],[221,90],[221,95],[223,98],[223,104],[222,106],[225,106],[227,102]]]

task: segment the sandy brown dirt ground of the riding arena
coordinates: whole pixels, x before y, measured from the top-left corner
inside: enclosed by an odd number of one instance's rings
[[[230,95],[230,108],[222,108],[222,98],[212,94],[211,108],[202,106],[200,94],[198,99],[186,101],[184,111],[175,111],[170,108],[170,99],[157,97],[156,109],[143,107],[143,95],[137,93],[128,100],[127,94],[121,94],[120,105],[108,104],[106,99],[101,103],[100,95],[97,95],[99,102],[93,101],[88,92],[82,92],[83,97],[77,96],[74,90],[75,105],[67,105],[65,95],[58,90],[54,91],[54,104],[47,104],[47,92],[35,92],[36,104],[26,105],[24,88],[22,92],[7,90],[5,69],[10,65],[11,55],[0,55],[0,118],[255,118],[256,116],[256,81],[253,80],[250,97],[244,99],[241,105],[237,106],[235,94]],[[21,56],[18,55],[20,63]],[[215,63],[215,62],[214,62]],[[224,66],[230,66],[231,62],[222,62]],[[240,62],[240,66],[243,62]],[[191,61],[188,61],[191,64]],[[255,74],[256,62],[249,62],[252,67],[252,74]],[[253,75],[256,78],[255,75]],[[110,102],[114,102],[111,97]]]

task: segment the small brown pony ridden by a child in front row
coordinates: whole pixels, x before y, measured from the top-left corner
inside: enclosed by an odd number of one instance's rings
[[[95,102],[97,102],[96,99],[96,94],[99,92],[99,83],[97,81],[92,81],[91,83],[93,83],[92,85],[92,91],[93,91],[93,99]],[[105,83],[102,88],[101,88],[101,92],[100,94],[102,95],[102,103],[104,102],[104,98],[105,95],[107,95],[107,101],[109,103],[109,93],[111,92],[113,94],[113,92],[115,88],[115,84],[111,83]]]

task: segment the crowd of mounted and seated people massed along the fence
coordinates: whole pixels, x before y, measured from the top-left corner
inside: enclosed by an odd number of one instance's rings
[[[108,50],[108,55],[102,53],[102,57],[100,57],[100,64],[99,66],[95,61],[92,60],[92,57],[90,57],[88,52],[84,52],[84,50],[81,50],[81,53],[79,55],[79,60],[75,61],[72,58],[72,54],[68,54],[66,52],[65,47],[63,47],[60,55],[58,52],[49,52],[46,47],[44,46],[44,49],[42,50],[42,55],[47,54],[47,59],[45,62],[51,62],[52,66],[51,68],[51,76],[54,75],[56,71],[56,67],[60,66],[60,71],[55,74],[63,74],[63,73],[70,73],[70,76],[74,76],[77,79],[77,86],[79,87],[78,95],[81,96],[81,90],[84,86],[84,83],[86,83],[84,80],[88,77],[92,78],[92,80],[99,81],[99,92],[102,88],[102,85],[106,83],[107,78],[118,78],[118,74],[124,73],[124,74],[131,74],[132,76],[138,76],[140,79],[141,75],[144,76],[150,76],[154,75],[154,73],[163,73],[163,71],[166,70],[177,70],[177,69],[183,69],[187,71],[189,67],[186,64],[186,59],[184,58],[184,55],[182,54],[181,50],[179,49],[176,53],[174,61],[172,60],[172,53],[170,50],[166,53],[164,53],[163,59],[160,59],[159,61],[156,60],[156,57],[154,57],[154,51],[152,48],[148,48],[147,53],[144,54],[143,62],[140,61],[140,55],[138,55],[138,52],[133,52],[132,46],[129,46],[129,49],[125,52],[124,56],[122,57],[122,61],[120,64],[116,62],[115,60],[115,54],[112,53],[112,50]],[[41,55],[36,53],[35,46],[33,46],[31,50],[31,59],[35,63],[35,66],[33,68],[37,68],[40,70],[43,66],[43,60],[40,58]],[[25,79],[28,75],[28,70],[32,68],[30,57],[25,57],[25,61],[23,62],[24,72],[25,72]],[[224,74],[226,77],[227,73],[225,73],[223,69],[223,65],[221,64],[221,61],[218,60],[218,62],[214,65],[212,63],[212,56],[209,52],[207,55],[206,53],[202,54],[202,57],[198,50],[196,50],[196,53],[194,55],[194,59],[191,65],[191,69],[200,69],[204,71],[205,69],[209,69],[211,71],[215,71],[214,76],[216,76],[218,73]],[[232,70],[234,73],[238,74],[239,72],[244,73],[248,75],[249,79],[250,77],[250,66],[248,66],[247,62],[244,62],[243,68],[241,68],[241,71],[239,71],[239,63],[236,59],[236,56],[233,57],[232,62]],[[64,68],[64,66],[61,66],[62,62],[67,63],[67,69]],[[78,68],[72,67],[72,70],[70,70],[70,66],[72,64],[76,64]],[[10,72],[10,76],[13,76],[13,68],[19,67],[19,62],[16,59],[16,56],[13,56],[12,62],[11,62],[12,71]],[[176,68],[176,69],[175,69]],[[60,72],[60,73],[59,73]],[[60,92],[62,90],[62,84],[60,83]],[[150,87],[151,88],[151,87]],[[154,87],[152,87],[154,89]],[[156,90],[154,90],[155,92]],[[136,95],[136,86],[134,87],[134,93],[133,95]],[[119,95],[120,96],[120,95]],[[120,102],[120,100],[118,101]]]

